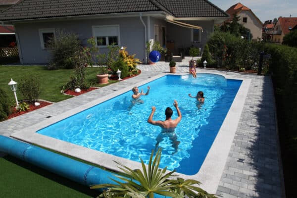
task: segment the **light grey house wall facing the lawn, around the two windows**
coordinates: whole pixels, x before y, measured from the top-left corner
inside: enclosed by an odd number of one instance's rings
[[[146,20],[144,18],[146,23]],[[42,49],[40,44],[39,29],[55,28],[65,32],[74,32],[79,35],[84,45],[91,38],[92,26],[119,25],[120,46],[127,47],[129,54],[136,54],[140,60],[145,59],[145,29],[139,17],[104,18],[88,20],[68,21],[42,21],[34,23],[15,24],[22,50],[23,64],[47,64],[50,61],[50,53]],[[106,49],[99,49],[106,52]]]

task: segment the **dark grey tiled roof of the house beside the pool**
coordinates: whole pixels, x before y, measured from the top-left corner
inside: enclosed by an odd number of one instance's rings
[[[22,0],[0,13],[0,21],[148,11],[175,17],[228,17],[208,0]]]

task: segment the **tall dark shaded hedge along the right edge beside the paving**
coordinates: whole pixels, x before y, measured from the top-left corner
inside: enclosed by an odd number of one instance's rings
[[[297,177],[297,48],[266,44],[264,51],[271,54],[269,66],[277,102],[286,195],[295,197],[296,186],[293,181]]]

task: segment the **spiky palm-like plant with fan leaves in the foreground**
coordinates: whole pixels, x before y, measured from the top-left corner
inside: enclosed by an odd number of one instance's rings
[[[208,194],[202,189],[193,186],[200,184],[196,180],[184,180],[182,178],[172,179],[174,171],[167,172],[167,167],[159,168],[161,158],[161,149],[158,149],[153,159],[153,151],[151,152],[148,169],[141,159],[142,171],[140,169],[132,170],[123,164],[116,162],[119,168],[129,175],[130,178],[115,175],[123,182],[111,179],[116,184],[99,184],[92,186],[91,189],[106,189],[99,197],[104,198],[153,198],[154,194],[159,194],[171,198],[215,198],[214,195]],[[196,191],[196,192],[195,192]]]

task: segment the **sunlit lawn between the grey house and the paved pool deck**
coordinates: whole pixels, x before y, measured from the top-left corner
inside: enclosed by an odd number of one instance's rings
[[[98,68],[88,67],[86,70],[86,80],[91,86],[99,87],[97,84],[96,73]],[[59,69],[47,70],[45,66],[0,66],[0,87],[3,89],[10,99],[14,99],[8,83],[12,78],[19,83],[25,76],[34,75],[40,79],[40,97],[52,102],[58,102],[64,99],[69,99],[71,96],[66,96],[60,93],[60,87],[70,81],[70,75],[74,75],[74,69]],[[109,81],[114,83],[116,81]],[[18,100],[23,99],[20,92],[16,91]]]

